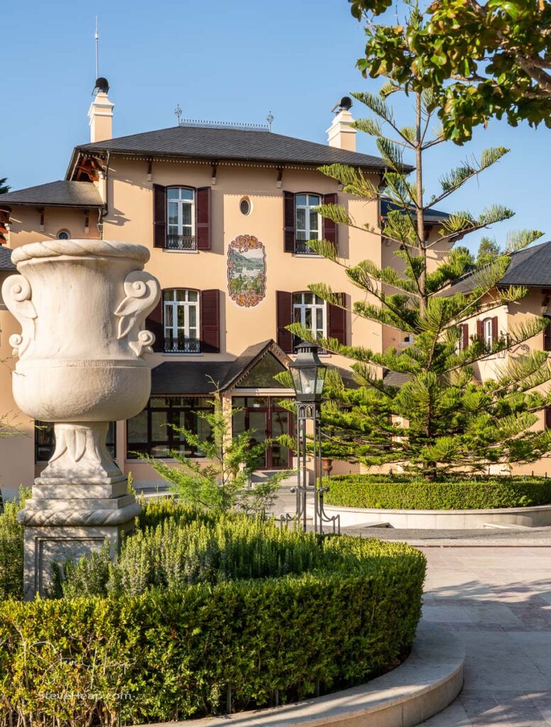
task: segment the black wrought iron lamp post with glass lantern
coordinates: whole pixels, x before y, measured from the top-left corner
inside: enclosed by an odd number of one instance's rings
[[[321,394],[327,366],[320,361],[318,346],[315,343],[302,342],[297,347],[297,358],[289,367],[293,377],[293,385],[297,398],[297,522],[306,530],[307,492],[313,490],[314,513],[313,526],[317,533],[323,534],[324,524],[331,526],[334,533],[340,534],[340,515],[329,517],[323,510],[323,494],[329,489],[321,486]],[[308,483],[307,460],[307,429],[308,422],[312,425],[313,470],[314,484]]]

